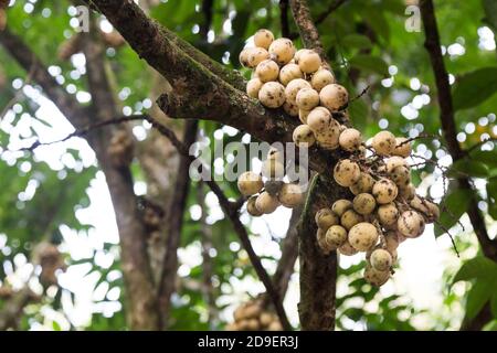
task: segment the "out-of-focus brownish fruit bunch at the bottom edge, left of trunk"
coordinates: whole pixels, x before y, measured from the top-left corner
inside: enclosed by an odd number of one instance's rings
[[[282,331],[278,317],[264,309],[260,299],[248,301],[236,308],[234,322],[226,325],[226,331]]]

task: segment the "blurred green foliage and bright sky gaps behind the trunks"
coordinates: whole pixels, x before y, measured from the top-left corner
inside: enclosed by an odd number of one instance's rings
[[[202,1],[140,1],[144,2],[150,6],[150,15],[157,21],[215,60],[234,69],[242,69],[245,75],[248,73],[237,63],[245,39],[260,28],[281,34],[278,1],[214,0],[207,41],[199,33],[203,21]],[[319,18],[331,2],[335,1],[309,1],[313,15]],[[367,93],[350,106],[353,125],[366,137],[385,128],[395,135],[426,135],[425,139],[416,141],[415,152],[473,178],[478,205],[485,213],[490,236],[495,236],[497,149],[493,142],[482,142],[497,138],[495,1],[458,1],[457,6],[450,0],[435,1],[457,109],[457,139],[464,149],[479,143],[472,149],[464,163],[454,167],[451,167],[451,158],[438,137],[438,107],[433,73],[423,47],[424,35],[405,30],[410,18],[405,9],[412,3],[415,1],[345,1],[318,24],[324,46],[328,50],[338,81],[351,96],[359,95],[369,86]],[[75,33],[75,14],[70,1],[12,0],[8,10],[11,31],[22,36],[70,94],[82,104],[87,104],[84,56],[75,54],[64,61],[56,55],[61,45]],[[102,22],[104,31],[109,32],[108,26],[108,23]],[[296,33],[292,18],[289,29],[292,34]],[[298,39],[296,42],[302,46]],[[152,74],[145,62],[126,45],[109,46],[106,54],[123,114],[146,111],[155,96],[151,92]],[[102,229],[91,217],[81,214],[81,211],[92,207],[97,212],[102,210],[95,204],[98,199],[91,196],[92,188],[99,190],[93,183],[98,180],[102,183],[103,176],[88,147],[78,140],[74,145],[67,142],[53,149],[43,148],[44,153],[11,152],[36,138],[54,140],[64,137],[62,132],[56,133],[61,126],[62,130],[71,132],[67,122],[61,121],[64,119],[60,114],[55,118],[42,111],[47,105],[50,103],[40,97],[40,88],[31,84],[29,74],[0,47],[0,284],[19,290],[28,281],[35,292],[42,293],[25,307],[19,329],[124,330],[125,296],[117,236],[108,234],[116,229]],[[200,127],[209,139],[219,139],[220,135],[228,142],[243,137],[239,131],[213,122],[202,121]],[[134,129],[139,140],[145,140],[148,131],[141,126]],[[52,154],[50,159],[47,153]],[[138,162],[134,164],[134,172],[136,189],[144,190],[145,179]],[[340,268],[337,328],[457,329],[465,315],[476,315],[488,300],[497,318],[497,265],[478,252],[467,216],[464,215],[468,195],[456,190],[453,183],[444,190],[441,170],[431,163],[416,169],[415,175],[422,193],[442,201],[447,208],[442,223],[452,228],[462,254],[462,258],[456,259],[450,246],[443,248],[444,258],[440,260],[443,269],[438,269],[443,271],[443,284],[436,288],[437,296],[443,299],[442,304],[437,310],[427,310],[414,306],[410,292],[399,286],[388,291],[371,288],[360,279],[363,264],[351,261]],[[237,196],[234,184],[222,184],[229,196]],[[229,312],[233,306],[255,296],[262,287],[246,254],[240,249],[231,224],[220,215],[219,207],[212,202],[212,195],[199,185],[192,186],[192,190],[200,191],[190,193],[184,214],[179,250],[181,285],[173,298],[171,329],[221,330],[230,321]],[[447,196],[444,197],[444,194]],[[108,207],[104,210],[108,211]],[[201,285],[200,242],[205,229],[202,220],[199,221],[199,213],[208,215],[208,220],[203,221],[212,235],[209,256],[213,264],[212,296],[215,308],[209,306]],[[450,213],[454,216],[447,216]],[[245,224],[251,225],[246,214],[242,217]],[[457,218],[465,225],[464,229],[456,223]],[[264,233],[265,236],[254,234],[254,238],[271,246],[279,243],[284,235],[272,234],[271,226]],[[438,236],[443,232],[435,229],[427,233],[424,236]],[[446,240],[446,235],[443,237]],[[445,240],[444,244],[447,243]],[[59,280],[50,286],[41,284],[40,266],[30,265],[34,261],[33,249],[42,242],[56,244],[67,266],[64,274],[59,270]],[[78,246],[87,250],[75,250]],[[278,250],[273,253],[264,257],[268,268],[274,268],[278,258]],[[423,260],[424,255],[419,256]],[[402,275],[405,276],[402,272],[399,276]],[[82,280],[85,295],[78,292],[81,288],[74,286],[71,277]],[[240,292],[241,284],[242,288],[248,289]],[[423,280],[419,279],[416,284],[423,286]],[[295,286],[290,286],[289,290],[298,291]],[[3,302],[0,298],[0,311]],[[293,321],[296,322],[295,312]],[[496,329],[497,319],[486,328]]]

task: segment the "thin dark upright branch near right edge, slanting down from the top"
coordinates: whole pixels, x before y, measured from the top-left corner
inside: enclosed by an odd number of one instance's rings
[[[424,46],[430,54],[435,83],[437,88],[437,99],[441,109],[442,135],[447,143],[448,152],[454,162],[464,158],[465,153],[457,141],[457,128],[454,118],[454,107],[452,101],[451,85],[448,83],[448,73],[445,68],[444,58],[441,50],[438,28],[435,18],[435,11],[432,0],[421,1],[421,15],[423,18],[425,43]],[[470,190],[475,194],[468,178],[459,176],[458,185],[463,190]],[[485,220],[479,212],[475,197],[469,200],[467,214],[473,225],[473,229],[482,246],[485,256],[497,260],[497,240],[491,240],[485,226]]]

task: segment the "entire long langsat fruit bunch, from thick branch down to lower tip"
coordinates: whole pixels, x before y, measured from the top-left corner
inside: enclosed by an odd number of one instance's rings
[[[297,146],[317,143],[349,154],[336,164],[334,178],[355,197],[338,200],[331,210],[316,214],[319,246],[325,253],[338,249],[342,255],[366,252],[366,280],[383,285],[392,272],[399,244],[420,236],[425,223],[436,221],[440,214],[434,203],[416,195],[411,183],[405,161],[411,154],[410,141],[381,131],[366,146],[360,131],[334,119],[335,113],[347,107],[349,95],[316,52],[296,51],[290,40],[275,40],[268,30],[257,31],[254,43],[255,47],[240,54],[242,65],[255,68],[247,95],[268,108],[283,107],[288,115],[298,116],[303,125],[293,133]],[[262,181],[256,185],[252,191],[258,192]],[[254,213],[257,200],[248,203]]]

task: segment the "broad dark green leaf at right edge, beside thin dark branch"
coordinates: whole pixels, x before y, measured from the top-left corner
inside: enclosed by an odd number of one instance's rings
[[[453,88],[454,109],[476,107],[497,92],[497,67],[478,68],[462,76]]]

